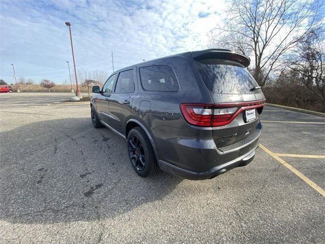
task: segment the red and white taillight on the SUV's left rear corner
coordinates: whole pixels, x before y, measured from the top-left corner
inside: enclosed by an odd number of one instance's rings
[[[202,127],[217,127],[230,124],[243,110],[262,108],[264,101],[265,99],[254,102],[223,104],[182,103],[180,108],[189,124]]]

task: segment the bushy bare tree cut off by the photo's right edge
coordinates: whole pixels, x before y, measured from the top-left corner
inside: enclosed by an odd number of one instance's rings
[[[289,62],[291,70],[299,74],[301,83],[321,99],[322,112],[325,112],[324,28],[312,29],[301,39]]]

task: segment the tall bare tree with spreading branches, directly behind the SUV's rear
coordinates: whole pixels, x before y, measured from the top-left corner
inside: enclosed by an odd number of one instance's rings
[[[224,26],[210,34],[211,46],[228,48],[254,57],[252,75],[261,86],[321,19],[319,1],[233,0]]]

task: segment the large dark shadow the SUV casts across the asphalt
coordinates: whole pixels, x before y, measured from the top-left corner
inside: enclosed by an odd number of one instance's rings
[[[182,181],[162,171],[138,176],[125,140],[94,129],[90,118],[41,120],[0,138],[0,218],[11,223],[115,218],[166,197]]]

